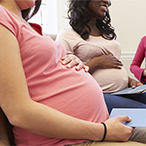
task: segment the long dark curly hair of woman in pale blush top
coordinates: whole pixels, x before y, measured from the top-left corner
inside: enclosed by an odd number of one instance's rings
[[[88,22],[91,20],[91,15],[88,10],[88,5],[91,0],[69,0],[69,10],[67,12],[69,24],[72,28],[84,39],[88,39],[91,29]],[[116,39],[114,28],[110,24],[111,18],[109,11],[103,18],[96,19],[96,26],[101,31],[103,38],[112,40]]]

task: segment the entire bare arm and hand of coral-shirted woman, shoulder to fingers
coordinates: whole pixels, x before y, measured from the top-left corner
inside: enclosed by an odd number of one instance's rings
[[[104,132],[102,124],[76,119],[31,100],[17,40],[2,25],[0,32],[0,106],[10,123],[48,137],[101,140]],[[124,121],[130,121],[130,118],[121,116],[106,121],[106,140],[129,139],[133,128],[123,125]]]

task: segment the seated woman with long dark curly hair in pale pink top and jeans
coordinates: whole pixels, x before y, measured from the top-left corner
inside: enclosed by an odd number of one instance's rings
[[[140,107],[146,103],[145,94],[123,98],[110,93],[142,85],[130,78],[120,61],[121,46],[111,26],[108,0],[70,0],[70,25],[63,28],[57,41],[68,54],[78,56],[102,88],[109,112],[113,107]],[[125,97],[125,96],[124,96]],[[137,102],[138,101],[138,102]]]

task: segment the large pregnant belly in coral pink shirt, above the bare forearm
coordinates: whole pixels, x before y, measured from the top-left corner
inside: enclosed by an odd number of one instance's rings
[[[103,92],[94,78],[83,70],[73,68],[64,72],[64,69],[54,72],[49,81],[45,80],[49,84],[40,86],[39,91],[48,90],[47,94],[44,92],[41,99],[35,97],[34,100],[79,119],[106,120],[108,114]]]

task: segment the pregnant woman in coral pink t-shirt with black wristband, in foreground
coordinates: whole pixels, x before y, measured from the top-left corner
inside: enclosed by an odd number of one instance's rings
[[[146,130],[123,124],[131,120],[128,116],[108,119],[94,78],[83,69],[76,71],[76,66],[63,65],[63,45],[45,36],[39,25],[27,22],[40,3],[0,0],[0,106],[14,126],[16,145],[146,142]]]

